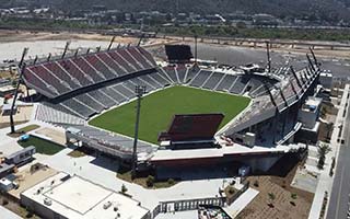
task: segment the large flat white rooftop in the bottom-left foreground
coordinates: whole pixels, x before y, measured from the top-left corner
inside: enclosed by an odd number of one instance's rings
[[[149,211],[138,206],[138,201],[114,191],[77,175],[67,176],[67,173],[60,172],[22,195],[63,217],[74,219],[115,219],[117,215],[120,218],[141,219]]]

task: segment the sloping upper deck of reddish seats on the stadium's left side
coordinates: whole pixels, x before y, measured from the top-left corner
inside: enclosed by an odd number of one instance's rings
[[[30,65],[23,78],[28,88],[54,99],[155,67],[152,56],[143,48],[126,47]]]

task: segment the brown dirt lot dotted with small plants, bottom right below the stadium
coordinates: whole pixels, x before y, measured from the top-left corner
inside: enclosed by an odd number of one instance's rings
[[[289,159],[284,160],[284,163],[292,163]],[[301,162],[299,163],[301,164]],[[285,168],[282,162],[278,162],[276,165]],[[277,168],[277,169],[282,169]],[[292,168],[284,176],[250,176],[250,186],[258,189],[260,193],[258,196],[237,216],[240,219],[303,219],[308,217],[308,211],[314,198],[314,194],[304,192],[290,184],[293,180],[298,165]],[[279,170],[275,170],[279,172]],[[275,172],[273,171],[273,172]],[[255,182],[258,182],[256,186]],[[275,199],[271,200],[269,193],[273,194]],[[272,204],[272,205],[269,205]]]

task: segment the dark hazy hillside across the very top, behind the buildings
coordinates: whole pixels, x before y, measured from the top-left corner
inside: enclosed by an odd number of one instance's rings
[[[92,5],[102,4],[121,11],[230,13],[238,10],[281,18],[312,14],[328,20],[350,20],[350,0],[0,0],[0,5],[9,5],[9,2],[22,5],[46,3],[65,11],[91,9]]]

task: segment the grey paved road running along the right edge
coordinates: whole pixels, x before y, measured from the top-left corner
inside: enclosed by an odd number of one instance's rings
[[[349,108],[348,108],[349,111]],[[335,181],[331,188],[327,219],[347,219],[350,194],[350,117],[347,115],[343,132],[345,143],[340,147]]]

